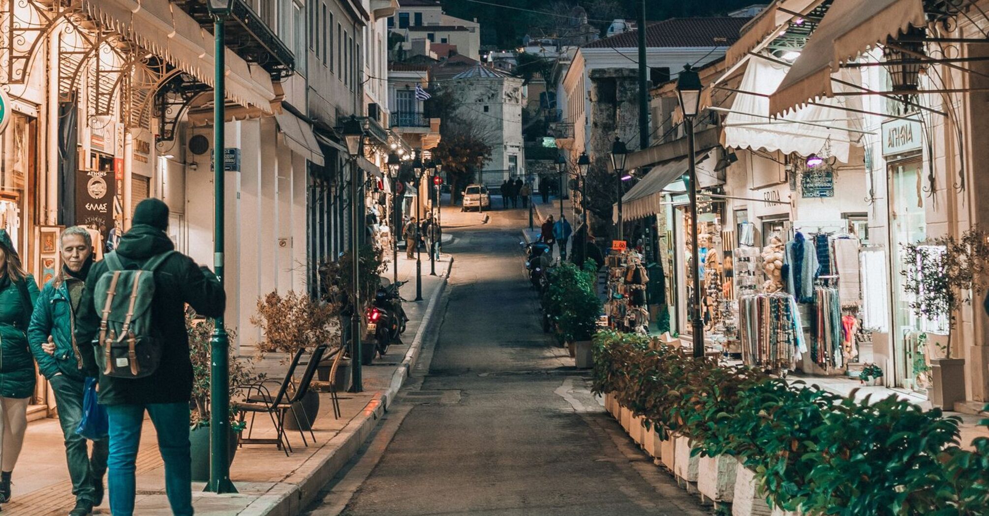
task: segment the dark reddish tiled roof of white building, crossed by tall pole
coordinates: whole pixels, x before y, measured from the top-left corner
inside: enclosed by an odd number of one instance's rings
[[[671,18],[646,27],[646,46],[729,46],[751,18]],[[584,48],[635,48],[639,32],[631,31],[584,44]]]

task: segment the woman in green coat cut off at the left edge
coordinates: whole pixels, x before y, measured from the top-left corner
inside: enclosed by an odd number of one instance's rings
[[[35,393],[27,331],[37,300],[35,279],[24,272],[14,242],[0,229],[0,503],[10,500],[10,473],[21,455],[28,402]]]

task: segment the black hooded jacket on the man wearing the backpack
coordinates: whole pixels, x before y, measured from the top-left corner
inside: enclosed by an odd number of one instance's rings
[[[174,249],[164,231],[146,224],[135,224],[121,237],[117,255],[128,269],[137,269],[148,258]],[[82,362],[92,376],[98,368],[92,344],[100,328],[100,315],[93,304],[93,288],[107,272],[106,260],[89,271],[86,288],[79,302],[76,342]],[[217,276],[180,253],[172,253],[154,272],[154,301],[151,320],[161,329],[161,363],[149,377],[131,380],[110,378],[100,373],[101,404],[188,402],[192,395],[192,362],[189,360],[189,334],[185,326],[185,304],[200,315],[216,317],[225,309],[225,293]],[[90,343],[84,345],[83,343]]]

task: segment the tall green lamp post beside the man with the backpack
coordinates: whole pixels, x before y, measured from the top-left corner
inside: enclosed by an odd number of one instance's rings
[[[221,284],[224,279],[224,123],[225,123],[225,84],[226,71],[225,23],[233,11],[233,0],[209,0],[208,7],[213,14],[214,85],[213,85],[213,174],[214,174],[214,225],[213,225],[213,268]],[[206,491],[235,493],[236,487],[230,481],[230,379],[229,347],[224,317],[214,319],[213,337],[210,339],[210,481]]]

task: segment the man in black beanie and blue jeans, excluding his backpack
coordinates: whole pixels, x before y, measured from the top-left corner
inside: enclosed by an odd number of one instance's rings
[[[102,315],[96,312],[94,302],[97,295],[108,296],[110,290],[104,286],[113,283],[101,282],[104,275],[116,277],[114,273],[123,270],[151,271],[153,298],[137,301],[153,307],[148,327],[154,328],[158,336],[152,341],[161,354],[157,367],[142,378],[121,378],[108,375],[120,375],[120,370],[126,367],[114,369],[111,362],[107,364],[108,370],[100,370],[99,374],[100,404],[106,406],[110,422],[107,460],[110,512],[114,516],[134,514],[135,461],[146,411],[157,433],[158,451],[165,464],[165,493],[172,514],[191,516],[189,399],[193,372],[185,305],[188,303],[200,315],[217,317],[224,314],[226,296],[214,273],[175,251],[165,232],[168,229],[165,203],[158,199],[141,201],[133,222],[117,249],[93,264],[86,277],[76,316],[75,341],[93,342],[98,335]],[[83,344],[79,348],[84,367],[89,371],[96,369],[96,346]],[[118,364],[121,362],[117,359]],[[135,369],[141,372],[131,364],[130,371],[133,373]]]

